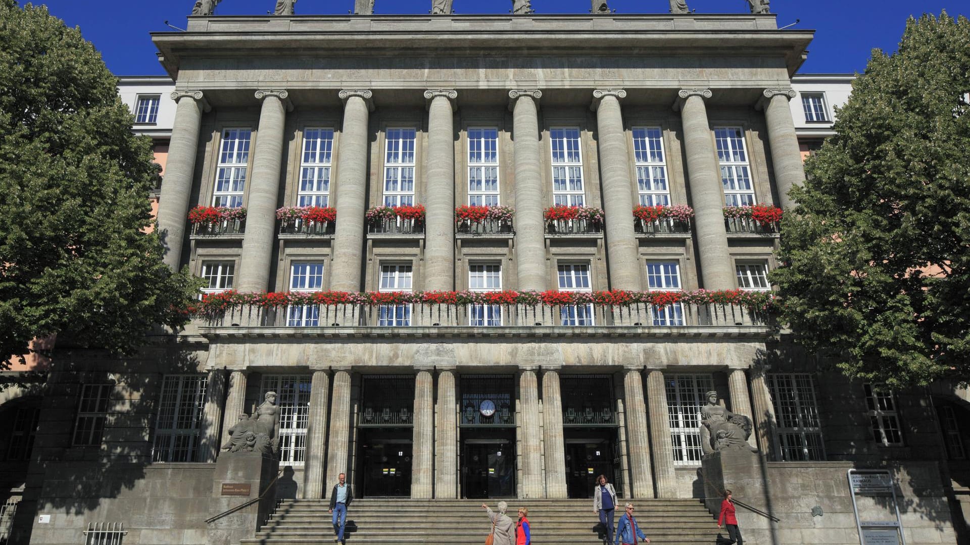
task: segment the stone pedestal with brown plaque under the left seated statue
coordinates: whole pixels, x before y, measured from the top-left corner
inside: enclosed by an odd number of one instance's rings
[[[215,463],[208,545],[233,545],[251,539],[276,502],[279,460],[260,452],[223,452]],[[263,494],[261,499],[256,499]]]

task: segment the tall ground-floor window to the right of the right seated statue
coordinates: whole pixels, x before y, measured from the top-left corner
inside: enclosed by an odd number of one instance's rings
[[[808,373],[769,373],[768,391],[778,421],[777,438],[785,462],[825,459],[815,381]]]

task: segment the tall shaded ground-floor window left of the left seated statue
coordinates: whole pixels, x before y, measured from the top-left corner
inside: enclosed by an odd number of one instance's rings
[[[167,374],[162,379],[152,462],[196,461],[206,383],[202,374]]]

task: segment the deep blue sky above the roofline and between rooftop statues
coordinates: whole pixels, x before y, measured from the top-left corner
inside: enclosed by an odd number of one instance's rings
[[[746,13],[746,0],[687,0],[697,13]],[[23,2],[21,0],[21,4]],[[155,59],[148,33],[169,30],[164,21],[184,28],[194,0],[40,0],[50,13],[71,26],[80,26],[84,37],[104,55],[118,76],[164,74]],[[459,14],[504,14],[510,0],[455,0]],[[533,0],[539,14],[584,14],[590,0]],[[619,14],[666,13],[667,0],[609,0]],[[217,15],[265,15],[275,0],[223,0]],[[899,42],[906,17],[923,12],[951,16],[970,15],[966,0],[772,0],[778,25],[800,19],[793,28],[816,30],[802,73],[861,72],[872,48],[893,50]],[[299,0],[297,14],[346,14],[353,0]],[[426,14],[431,0],[376,0],[378,14]]]

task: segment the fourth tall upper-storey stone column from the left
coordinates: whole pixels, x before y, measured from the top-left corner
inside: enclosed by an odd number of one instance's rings
[[[425,193],[425,288],[455,288],[455,128],[458,91],[425,91],[428,100],[428,191]],[[411,489],[413,496],[414,490]]]

